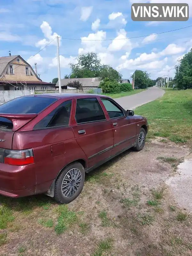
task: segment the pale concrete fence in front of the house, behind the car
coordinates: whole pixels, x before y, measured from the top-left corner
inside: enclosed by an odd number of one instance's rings
[[[33,91],[34,93],[34,91]],[[31,95],[31,91],[23,90],[23,91],[0,91],[0,105],[15,98]]]

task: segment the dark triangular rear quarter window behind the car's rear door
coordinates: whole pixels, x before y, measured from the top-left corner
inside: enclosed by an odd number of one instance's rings
[[[72,100],[68,100],[60,104],[50,114],[45,116],[39,123],[37,123],[33,130],[68,126],[71,114],[71,104]]]

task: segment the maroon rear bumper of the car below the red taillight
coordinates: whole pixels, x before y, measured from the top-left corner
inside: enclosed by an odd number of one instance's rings
[[[10,197],[35,194],[34,164],[16,166],[0,163],[0,194]]]

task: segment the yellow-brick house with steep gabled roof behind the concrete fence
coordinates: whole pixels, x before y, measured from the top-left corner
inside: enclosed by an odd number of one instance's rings
[[[54,84],[43,82],[20,55],[0,57],[0,91],[50,90]]]

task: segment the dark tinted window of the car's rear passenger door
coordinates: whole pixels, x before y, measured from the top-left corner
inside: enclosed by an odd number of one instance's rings
[[[77,99],[75,118],[77,124],[106,119],[96,98]]]

